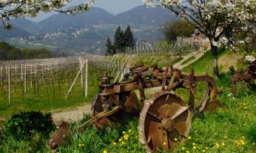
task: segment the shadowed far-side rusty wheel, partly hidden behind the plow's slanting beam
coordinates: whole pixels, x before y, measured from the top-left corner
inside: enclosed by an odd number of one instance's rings
[[[98,120],[96,123],[94,123],[94,126],[99,130],[104,129],[105,126],[117,126],[125,114],[134,114],[139,110],[139,99],[134,92],[122,92],[119,95],[110,95],[108,101],[110,107],[122,105],[122,109],[120,109],[112,116],[102,118],[101,120]],[[102,96],[98,94],[96,97],[94,97],[94,101],[91,104],[91,117],[94,117],[100,112],[104,111],[102,107],[103,103],[104,102]]]

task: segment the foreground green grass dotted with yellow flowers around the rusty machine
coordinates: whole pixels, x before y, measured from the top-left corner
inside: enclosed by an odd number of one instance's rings
[[[229,54],[229,51],[222,50],[219,56],[223,54]],[[195,69],[196,74],[207,72],[212,75],[210,52],[185,67],[184,71],[189,72],[191,67]],[[228,109],[216,109],[201,118],[193,119],[190,139],[180,143],[173,152],[256,152],[256,90],[253,86],[240,83],[238,94],[231,95],[230,78],[230,73],[222,73],[221,77],[216,79],[218,87],[223,90],[217,98]],[[199,84],[199,92],[203,91],[202,88],[203,84]],[[176,93],[184,101],[188,100],[187,91],[181,89]],[[74,126],[88,119],[89,117],[85,116],[83,121],[75,123]],[[61,146],[58,152],[145,152],[139,142],[138,122],[139,114],[125,120],[123,126],[113,129],[97,131],[90,127],[83,133],[72,135],[72,139],[65,146]],[[48,152],[46,141],[46,137],[38,134],[32,139],[17,141],[11,133],[3,131],[3,134],[0,134],[0,152]]]

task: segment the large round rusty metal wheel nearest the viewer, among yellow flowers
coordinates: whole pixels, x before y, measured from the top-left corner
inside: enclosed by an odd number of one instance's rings
[[[145,101],[139,118],[139,137],[147,152],[173,150],[190,132],[190,111],[180,97],[160,92]]]

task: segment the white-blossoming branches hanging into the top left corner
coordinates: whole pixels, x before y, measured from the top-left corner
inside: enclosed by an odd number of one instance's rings
[[[35,17],[38,12],[50,12],[52,10],[68,14],[87,12],[94,0],[61,10],[61,7],[69,2],[70,0],[3,0],[0,2],[0,20],[5,29],[11,29],[12,26],[8,22],[11,18]]]

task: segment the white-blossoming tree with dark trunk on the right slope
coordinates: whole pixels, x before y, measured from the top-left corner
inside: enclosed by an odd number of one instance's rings
[[[250,22],[255,20],[255,0],[143,0],[145,5],[162,5],[172,13],[195,26],[210,40],[214,75],[218,77],[217,48],[230,46],[233,50],[238,44],[248,41],[238,37],[240,33],[253,29]]]

